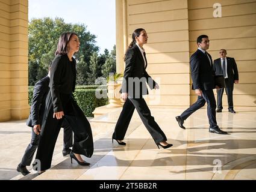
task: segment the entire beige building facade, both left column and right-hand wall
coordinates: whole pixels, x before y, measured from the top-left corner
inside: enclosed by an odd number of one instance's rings
[[[189,57],[196,38],[206,34],[213,59],[219,49],[236,59],[234,106],[256,109],[255,0],[116,0],[117,73],[123,73],[123,55],[136,28],[148,32],[147,71],[161,88],[150,91],[149,105],[180,108],[196,100]],[[28,114],[28,0],[0,0],[0,121]]]

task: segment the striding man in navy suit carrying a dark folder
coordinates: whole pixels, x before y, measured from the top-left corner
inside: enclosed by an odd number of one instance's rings
[[[216,101],[213,94],[214,72],[211,55],[206,52],[209,49],[209,39],[207,35],[200,35],[197,39],[198,50],[190,57],[190,70],[193,80],[192,89],[198,95],[198,100],[189,109],[185,110],[180,116],[176,116],[176,121],[181,128],[186,129],[184,121],[196,110],[207,103],[207,115],[209,119],[209,132],[217,134],[227,134],[220,130],[216,121]],[[216,87],[217,88],[217,87]]]

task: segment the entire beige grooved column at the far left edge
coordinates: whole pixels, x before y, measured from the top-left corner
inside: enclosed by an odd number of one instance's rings
[[[28,1],[0,0],[0,121],[28,113]]]

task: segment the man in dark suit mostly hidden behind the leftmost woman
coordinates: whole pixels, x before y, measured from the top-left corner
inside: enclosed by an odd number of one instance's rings
[[[27,120],[28,127],[32,127],[31,142],[28,145],[22,160],[17,166],[17,171],[22,173],[22,175],[27,175],[30,173],[26,166],[30,166],[33,160],[34,152],[39,144],[40,130],[43,119],[43,113],[45,111],[45,100],[49,92],[49,74],[43,79],[36,83],[33,89],[33,100],[31,104],[30,116]],[[67,124],[66,121],[63,122],[62,127],[64,128],[64,144],[63,144],[63,156],[70,153],[73,140],[72,128]]]

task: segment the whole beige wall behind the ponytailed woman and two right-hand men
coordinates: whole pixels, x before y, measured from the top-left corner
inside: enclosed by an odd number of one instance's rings
[[[221,18],[213,17],[216,2],[222,5]],[[189,56],[197,49],[196,38],[207,34],[210,37],[208,52],[214,59],[223,48],[237,61],[240,84],[234,87],[234,106],[256,109],[255,0],[116,0],[116,5],[119,6],[116,28],[127,34],[119,33],[117,43],[130,43],[136,28],[145,28],[148,32],[147,71],[152,77],[161,78],[161,91],[150,92],[149,104],[187,107],[196,100],[191,91]],[[118,58],[125,49],[126,46],[117,48],[119,73],[123,73],[124,63]],[[118,56],[118,53],[121,54]],[[226,95],[223,105],[227,105]]]

